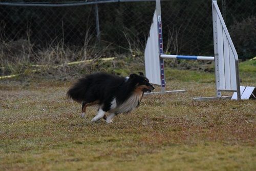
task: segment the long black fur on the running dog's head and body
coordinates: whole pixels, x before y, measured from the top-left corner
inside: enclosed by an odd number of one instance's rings
[[[129,79],[107,73],[94,73],[79,79],[68,90],[67,95],[76,102],[82,102],[82,105],[99,101],[102,110],[108,111],[114,98],[116,98],[117,105],[120,105],[132,95],[139,85],[151,87],[144,91],[154,89],[154,86],[141,72],[140,75],[131,74]]]

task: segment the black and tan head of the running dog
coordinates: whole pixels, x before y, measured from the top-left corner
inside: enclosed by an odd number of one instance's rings
[[[151,92],[155,89],[142,72],[139,72],[139,75],[136,73],[131,74],[129,80],[135,84],[135,91]]]

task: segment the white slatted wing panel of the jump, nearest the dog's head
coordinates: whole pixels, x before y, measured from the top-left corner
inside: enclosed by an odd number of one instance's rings
[[[147,38],[144,58],[146,77],[150,80],[150,83],[161,85],[156,11],[150,28],[150,36]]]

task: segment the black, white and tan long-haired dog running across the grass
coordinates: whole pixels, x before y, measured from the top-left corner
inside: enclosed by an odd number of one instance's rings
[[[98,113],[92,122],[103,118],[107,123],[111,123],[119,113],[128,113],[138,107],[144,92],[154,89],[142,72],[130,74],[129,77],[101,72],[79,79],[68,90],[67,96],[82,103],[82,117],[86,115],[88,106],[99,105]],[[107,117],[106,112],[109,113]]]

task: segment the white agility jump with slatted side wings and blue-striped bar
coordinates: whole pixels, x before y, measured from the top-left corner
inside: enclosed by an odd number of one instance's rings
[[[161,4],[156,0],[156,10],[145,48],[145,72],[146,77],[153,84],[161,85],[161,92],[180,92],[184,90],[165,91],[164,59],[181,60],[208,60],[215,61],[215,78],[217,97],[221,91],[237,92],[237,99],[241,99],[238,54],[232,43],[227,27],[217,5],[217,0],[212,0],[212,24],[214,31],[214,56],[186,56],[163,54]],[[205,100],[212,98],[196,98]]]

